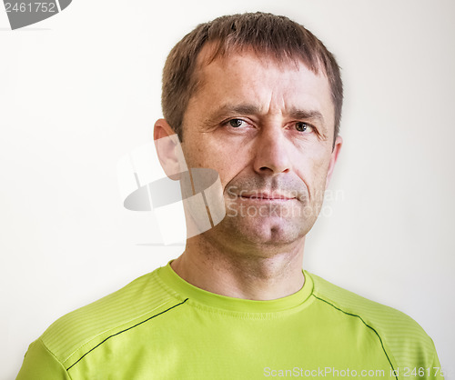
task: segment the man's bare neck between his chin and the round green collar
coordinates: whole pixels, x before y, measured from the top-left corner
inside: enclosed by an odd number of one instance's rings
[[[187,240],[187,246],[171,264],[191,285],[217,295],[271,300],[296,293],[305,281],[302,273],[305,237],[286,246],[218,249],[203,235]]]

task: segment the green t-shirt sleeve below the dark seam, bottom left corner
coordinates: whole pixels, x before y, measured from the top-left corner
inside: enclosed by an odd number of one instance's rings
[[[16,380],[70,380],[65,367],[43,344],[41,339],[28,346],[24,363]]]

